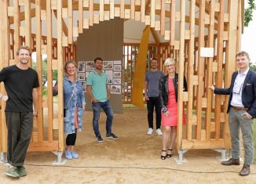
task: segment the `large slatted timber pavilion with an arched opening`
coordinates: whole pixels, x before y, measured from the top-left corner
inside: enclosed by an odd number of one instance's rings
[[[74,39],[94,24],[119,17],[149,26],[156,49],[152,51],[150,47],[148,52],[159,59],[160,69],[164,70],[163,62],[167,57],[173,57],[177,61],[177,72],[187,78],[188,92],[182,92],[183,77],[178,81],[178,106],[185,106],[187,119],[182,126],[182,108],[179,108],[178,160],[183,161],[186,150],[196,149],[221,150],[225,157],[225,150],[230,148],[228,115],[225,114],[228,96],[214,96],[207,87],[212,84],[229,86],[236,69],[236,52],[240,50],[243,4],[243,0],[0,0],[0,70],[15,64],[16,49],[27,45],[36,52],[36,70],[42,84],[40,61],[43,54],[47,55],[48,96],[42,96],[40,86],[38,117],[29,151],[57,151],[58,162],[61,161],[63,102],[58,101],[60,111],[57,118],[53,118],[53,70],[58,71],[59,99],[62,99],[63,63],[76,60]],[[53,31],[57,31],[57,38],[53,38]],[[160,42],[158,35],[166,41]],[[5,93],[2,83],[0,89]],[[123,94],[127,96],[127,91]],[[130,101],[124,100],[124,103]],[[7,151],[7,132],[5,103],[1,105],[0,152],[3,158]]]

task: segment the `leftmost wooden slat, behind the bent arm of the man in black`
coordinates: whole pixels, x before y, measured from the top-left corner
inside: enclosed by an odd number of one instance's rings
[[[8,5],[9,0],[6,1],[0,1],[0,7],[1,7],[1,16],[0,16],[0,70],[2,70],[2,67],[9,66],[9,60],[10,60],[10,39],[9,39],[9,19],[8,19]],[[4,90],[4,84],[1,82],[0,84],[0,92],[2,94],[5,94]],[[1,114],[0,114],[0,152],[7,152],[7,128],[6,128],[6,121],[5,121],[5,102],[1,100]]]

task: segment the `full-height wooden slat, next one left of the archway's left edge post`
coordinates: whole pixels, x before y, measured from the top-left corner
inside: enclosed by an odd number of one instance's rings
[[[52,10],[51,0],[46,2],[46,30],[47,30],[47,106],[48,106],[48,141],[53,142],[53,71],[52,71],[52,60],[53,60],[53,41],[52,41]]]

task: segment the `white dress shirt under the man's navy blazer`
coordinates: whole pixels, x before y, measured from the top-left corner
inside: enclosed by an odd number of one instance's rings
[[[238,71],[238,74],[236,76],[236,80],[232,89],[232,100],[231,105],[232,106],[240,106],[244,107],[242,103],[242,89],[243,89],[243,82],[245,78],[247,77],[247,73],[249,71],[249,67],[247,70],[245,70],[243,73]]]

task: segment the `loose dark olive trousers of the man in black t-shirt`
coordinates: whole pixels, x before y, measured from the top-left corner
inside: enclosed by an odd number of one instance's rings
[[[33,113],[5,112],[8,129],[7,160],[13,166],[23,166],[33,128]]]

